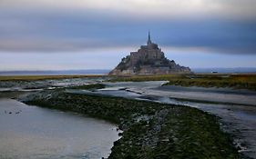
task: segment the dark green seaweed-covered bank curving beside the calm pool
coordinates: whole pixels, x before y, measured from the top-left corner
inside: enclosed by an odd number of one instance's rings
[[[220,130],[214,115],[183,105],[84,92],[47,90],[22,100],[26,104],[79,112],[118,124],[123,130],[119,134],[122,137],[114,143],[108,158],[240,157],[230,135]]]

